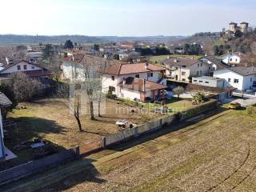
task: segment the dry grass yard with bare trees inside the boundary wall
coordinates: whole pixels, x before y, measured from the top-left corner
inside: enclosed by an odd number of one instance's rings
[[[13,110],[8,118],[18,123],[18,132],[8,129],[10,140],[6,146],[13,150],[18,158],[7,161],[5,166],[14,166],[21,162],[31,160],[33,150],[15,151],[14,146],[33,138],[43,138],[55,146],[56,150],[69,149],[74,146],[86,146],[92,142],[98,142],[102,136],[118,132],[115,122],[126,119],[130,123],[141,124],[152,118],[158,118],[158,114],[147,113],[138,107],[126,106],[116,101],[106,102],[106,114],[102,117],[96,116],[91,121],[89,115],[82,115],[82,128],[84,132],[78,131],[78,125],[74,116],[70,113],[63,100],[42,99],[34,102],[22,103],[26,109]],[[96,106],[94,106],[96,108]],[[131,113],[134,109],[134,113]],[[1,166],[0,166],[1,169]]]

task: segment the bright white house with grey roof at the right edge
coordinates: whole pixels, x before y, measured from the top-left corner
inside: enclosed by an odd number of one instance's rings
[[[233,86],[238,90],[255,90],[256,67],[235,66],[214,71],[214,78],[224,78],[224,87]]]

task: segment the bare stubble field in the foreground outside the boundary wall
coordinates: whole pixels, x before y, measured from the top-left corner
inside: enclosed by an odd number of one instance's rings
[[[182,130],[103,150],[8,189],[240,192],[256,191],[255,179],[256,118],[226,110]]]

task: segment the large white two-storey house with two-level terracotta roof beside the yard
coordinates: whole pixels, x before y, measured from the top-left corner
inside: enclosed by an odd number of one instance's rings
[[[164,67],[148,63],[118,63],[103,72],[102,92],[140,102],[154,101],[164,96],[165,71]]]

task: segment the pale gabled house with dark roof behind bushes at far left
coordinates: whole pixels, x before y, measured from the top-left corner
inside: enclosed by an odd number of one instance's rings
[[[48,78],[50,77],[50,71],[37,64],[22,60],[12,65],[6,66],[3,70],[0,70],[1,77],[7,77],[10,74],[22,72],[30,78]]]

